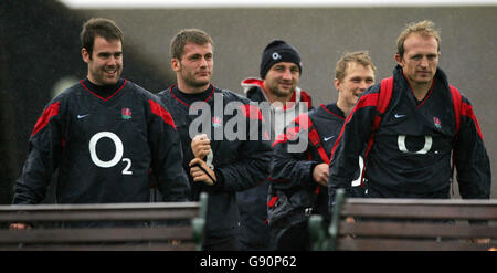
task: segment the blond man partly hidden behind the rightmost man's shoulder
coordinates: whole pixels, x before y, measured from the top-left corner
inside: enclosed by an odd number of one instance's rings
[[[276,250],[309,250],[307,220],[320,214],[329,222],[328,164],[346,116],[358,97],[374,83],[374,65],[367,52],[345,54],[336,69],[338,101],[300,114],[273,145],[274,159],[268,197],[268,222]],[[306,140],[306,149],[292,145]],[[359,178],[356,170],[355,177]],[[353,182],[355,197],[364,188]]]

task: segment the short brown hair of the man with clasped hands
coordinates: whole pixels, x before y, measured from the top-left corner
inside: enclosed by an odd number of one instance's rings
[[[172,59],[181,60],[184,52],[184,45],[187,43],[195,43],[198,45],[204,45],[210,43],[214,46],[212,38],[202,30],[199,29],[183,29],[180,30],[170,43],[170,54]]]

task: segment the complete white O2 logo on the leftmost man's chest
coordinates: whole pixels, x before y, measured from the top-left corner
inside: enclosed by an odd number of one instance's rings
[[[107,137],[110,140],[113,140],[114,146],[116,147],[116,154],[114,154],[113,159],[110,159],[108,161],[101,160],[101,158],[98,158],[98,155],[96,153],[96,145],[97,145],[98,140],[101,140],[103,137]],[[92,161],[96,166],[98,166],[101,168],[110,168],[110,167],[116,166],[118,162],[123,161],[123,162],[127,164],[126,167],[123,169],[123,175],[133,175],[133,171],[129,170],[131,168],[131,159],[123,158],[123,154],[124,154],[123,141],[114,133],[101,132],[101,133],[95,134],[89,139],[89,156],[92,157]]]

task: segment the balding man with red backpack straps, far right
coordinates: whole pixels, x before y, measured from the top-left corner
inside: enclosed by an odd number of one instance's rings
[[[336,189],[350,188],[357,166],[353,158],[370,139],[364,159],[367,197],[450,198],[453,153],[461,196],[489,198],[490,166],[482,132],[469,101],[456,98],[459,93],[451,91],[454,87],[437,66],[438,45],[440,38],[430,21],[409,25],[400,35],[395,54],[399,65],[393,71],[387,111],[377,113],[377,84],[361,96],[334,147],[328,181],[330,208]],[[379,117],[378,129],[371,132]]]

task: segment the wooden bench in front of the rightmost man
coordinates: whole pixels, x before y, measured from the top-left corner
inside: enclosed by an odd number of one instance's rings
[[[309,232],[314,250],[484,251],[497,249],[496,220],[493,199],[345,198],[340,189],[328,230],[313,216]]]

